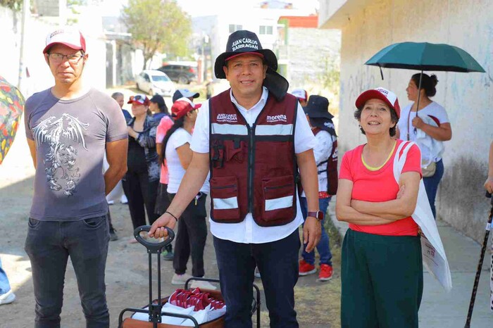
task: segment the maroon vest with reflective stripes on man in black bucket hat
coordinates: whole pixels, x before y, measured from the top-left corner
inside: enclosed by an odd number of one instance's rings
[[[292,222],[297,215],[294,154],[297,99],[269,94],[251,127],[231,102],[230,90],[209,100],[211,219],[242,222],[252,213],[257,225]]]

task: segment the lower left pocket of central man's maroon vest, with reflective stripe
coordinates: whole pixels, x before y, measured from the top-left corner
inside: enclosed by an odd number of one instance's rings
[[[212,219],[239,220],[237,177],[213,177],[210,183]]]

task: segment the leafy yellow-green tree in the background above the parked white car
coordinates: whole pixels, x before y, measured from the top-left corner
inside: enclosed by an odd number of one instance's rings
[[[156,54],[184,56],[192,34],[192,22],[175,0],[129,0],[122,20],[135,47],[144,53],[144,67]]]

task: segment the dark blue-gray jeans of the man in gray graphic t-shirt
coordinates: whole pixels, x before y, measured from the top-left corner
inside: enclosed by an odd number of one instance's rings
[[[104,269],[109,230],[106,215],[80,221],[29,219],[25,251],[35,286],[35,328],[59,328],[68,257],[77,277],[87,328],[108,328]]]

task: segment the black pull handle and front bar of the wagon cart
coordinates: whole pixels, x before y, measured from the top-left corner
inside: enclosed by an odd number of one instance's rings
[[[161,323],[161,315],[168,315],[170,317],[181,317],[183,319],[192,320],[194,323],[194,327],[199,328],[199,323],[196,322],[194,317],[189,315],[180,315],[177,313],[161,313],[161,309],[163,305],[161,304],[161,251],[164,246],[171,244],[171,241],[175,239],[175,232],[168,227],[165,229],[168,231],[168,238],[160,243],[151,243],[146,241],[146,239],[142,238],[140,235],[141,232],[149,232],[151,229],[150,225],[143,225],[141,227],[137,227],[134,230],[134,236],[140,244],[144,245],[147,248],[147,253],[149,254],[149,310],[144,310],[142,308],[125,308],[122,312],[120,312],[120,316],[118,317],[118,328],[122,328],[123,323],[123,313],[125,312],[134,312],[134,313],[149,313],[149,322],[152,322],[153,328],[158,328],[158,323]],[[158,258],[158,302],[154,303],[152,301],[152,254],[157,254]]]

